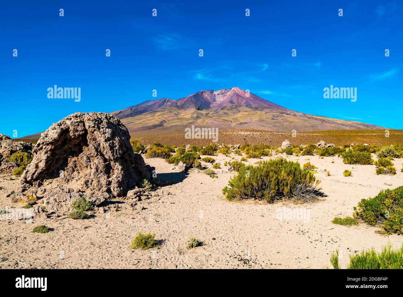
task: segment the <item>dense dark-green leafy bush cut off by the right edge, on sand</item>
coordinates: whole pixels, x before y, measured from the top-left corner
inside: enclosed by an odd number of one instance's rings
[[[403,186],[382,190],[374,198],[362,199],[353,210],[355,219],[382,226],[388,234],[403,234]]]

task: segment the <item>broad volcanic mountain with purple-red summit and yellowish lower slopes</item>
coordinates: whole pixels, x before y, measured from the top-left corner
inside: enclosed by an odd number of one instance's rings
[[[162,100],[162,101],[160,101]],[[271,131],[384,129],[380,126],[299,113],[239,88],[202,90],[178,100],[159,99],[117,111],[132,137],[184,134],[185,128]]]

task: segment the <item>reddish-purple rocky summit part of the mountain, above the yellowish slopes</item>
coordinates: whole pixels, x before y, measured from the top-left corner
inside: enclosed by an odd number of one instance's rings
[[[184,109],[193,107],[197,110],[221,109],[222,107],[229,105],[240,105],[251,109],[272,108],[288,111],[288,109],[280,105],[276,105],[260,98],[259,96],[245,92],[240,88],[223,89],[218,91],[202,90],[171,103],[171,106],[182,107]]]

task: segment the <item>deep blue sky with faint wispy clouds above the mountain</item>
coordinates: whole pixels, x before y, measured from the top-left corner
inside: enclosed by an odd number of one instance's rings
[[[2,3],[0,133],[123,109],[156,99],[154,89],[178,99],[235,86],[303,113],[403,129],[400,1],[143,2]],[[81,101],[49,99],[55,84],[80,87]],[[357,88],[357,101],[324,99],[330,85]]]

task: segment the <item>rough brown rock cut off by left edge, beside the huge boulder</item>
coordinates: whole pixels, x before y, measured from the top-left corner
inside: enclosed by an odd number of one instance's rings
[[[8,135],[0,134],[0,174],[11,173],[18,167],[15,162],[8,162],[7,158],[12,154],[21,151],[31,153],[32,143],[14,141]]]

